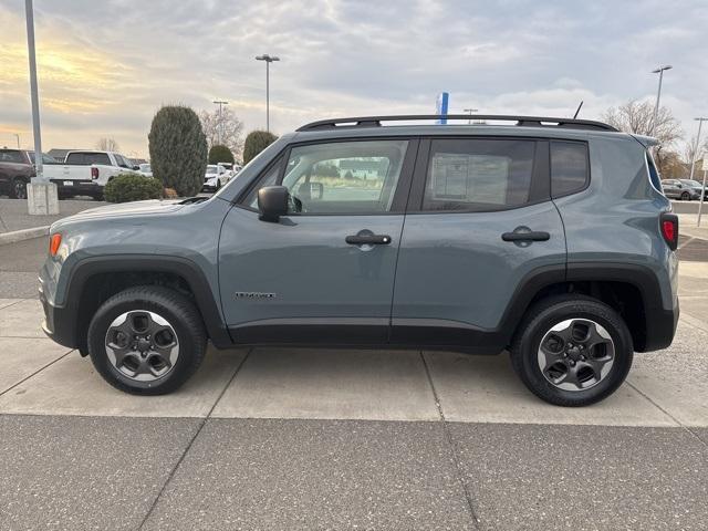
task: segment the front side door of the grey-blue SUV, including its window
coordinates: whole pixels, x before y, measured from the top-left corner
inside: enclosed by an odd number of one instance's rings
[[[237,343],[387,340],[396,258],[417,140],[289,148],[228,214],[221,302]],[[282,185],[288,216],[262,221],[258,189]]]

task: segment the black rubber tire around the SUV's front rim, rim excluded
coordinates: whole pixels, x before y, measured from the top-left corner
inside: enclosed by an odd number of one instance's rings
[[[129,311],[148,311],[164,317],[178,340],[178,357],[169,372],[150,382],[122,373],[108,358],[106,334],[116,317]],[[185,295],[168,288],[129,288],[105,301],[88,326],[88,354],[96,371],[117,389],[136,395],[163,395],[181,386],[201,364],[207,336],[199,311]]]

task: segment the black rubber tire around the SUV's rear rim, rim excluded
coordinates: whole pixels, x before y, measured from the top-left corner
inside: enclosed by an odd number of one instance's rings
[[[589,388],[559,388],[546,379],[539,366],[541,340],[551,327],[570,319],[594,321],[605,329],[614,343],[610,371]],[[596,299],[577,294],[553,296],[529,309],[510,351],[512,366],[529,391],[558,406],[586,406],[606,398],[625,381],[634,357],[632,335],[620,314]]]

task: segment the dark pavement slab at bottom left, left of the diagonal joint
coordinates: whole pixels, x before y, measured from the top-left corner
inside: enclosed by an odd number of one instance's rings
[[[0,527],[137,529],[197,419],[0,415]]]

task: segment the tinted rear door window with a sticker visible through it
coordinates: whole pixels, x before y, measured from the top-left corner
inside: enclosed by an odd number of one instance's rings
[[[529,201],[535,142],[433,140],[424,210],[489,211]]]

